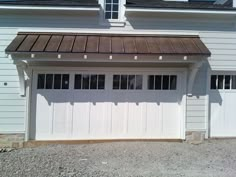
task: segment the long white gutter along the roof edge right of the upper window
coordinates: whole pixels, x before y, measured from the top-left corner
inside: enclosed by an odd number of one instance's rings
[[[126,12],[160,12],[160,13],[191,13],[191,14],[224,14],[236,15],[236,10],[201,10],[201,9],[158,9],[158,8],[131,8],[126,7]]]

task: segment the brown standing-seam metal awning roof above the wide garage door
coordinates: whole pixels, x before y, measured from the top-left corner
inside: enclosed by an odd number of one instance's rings
[[[18,33],[7,54],[203,55],[210,51],[198,36],[72,33]]]

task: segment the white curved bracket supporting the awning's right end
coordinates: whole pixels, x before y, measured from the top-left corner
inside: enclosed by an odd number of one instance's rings
[[[203,61],[199,61],[194,63],[190,68],[189,68],[189,75],[188,75],[188,87],[187,87],[187,96],[191,97],[193,96],[193,84],[197,75],[197,72],[199,68],[202,66]]]

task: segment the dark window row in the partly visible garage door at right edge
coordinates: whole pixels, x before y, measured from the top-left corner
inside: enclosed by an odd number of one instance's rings
[[[211,90],[236,89],[236,75],[211,75]]]

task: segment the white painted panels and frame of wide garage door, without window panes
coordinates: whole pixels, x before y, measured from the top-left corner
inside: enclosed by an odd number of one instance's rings
[[[142,74],[145,78],[158,73],[147,69],[90,70],[81,72],[106,75],[105,90],[74,90],[73,79],[69,90],[37,90],[36,76],[42,71],[34,73],[32,101],[36,102],[31,127],[35,129],[31,128],[31,139],[184,139],[182,72],[159,71],[159,74],[178,75],[177,90],[152,91],[143,85],[143,90],[124,91],[112,89],[112,74]],[[81,72],[77,69],[69,73],[73,78]]]

